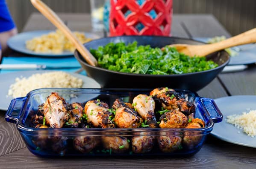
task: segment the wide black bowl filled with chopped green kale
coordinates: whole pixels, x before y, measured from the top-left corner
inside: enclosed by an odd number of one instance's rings
[[[106,37],[98,40],[92,40],[85,43],[87,49],[97,49],[99,46],[105,46],[107,43],[124,42],[132,43],[137,41],[138,45],[150,45],[151,47],[163,47],[174,43],[186,44],[203,44],[201,42],[183,39],[178,37],[161,37],[161,36],[119,36]],[[132,74],[115,72],[100,67],[88,65],[83,57],[76,50],[75,57],[87,72],[89,77],[94,78],[101,87],[104,88],[156,88],[169,87],[176,89],[188,89],[198,91],[209,84],[229,63],[230,56],[225,51],[215,52],[208,55],[207,60],[213,60],[218,63],[215,69],[186,73],[186,74],[170,74],[170,75],[153,75],[153,74]]]

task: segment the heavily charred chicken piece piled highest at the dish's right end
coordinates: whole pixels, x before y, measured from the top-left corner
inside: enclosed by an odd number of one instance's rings
[[[150,92],[150,95],[160,102],[164,109],[180,109],[185,115],[195,112],[194,104],[186,101],[174,89],[156,88]]]

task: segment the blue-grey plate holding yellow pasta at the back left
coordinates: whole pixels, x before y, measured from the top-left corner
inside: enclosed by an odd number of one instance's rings
[[[31,32],[23,32],[11,37],[7,41],[7,45],[18,52],[25,53],[25,54],[32,54],[37,56],[46,56],[46,57],[65,57],[65,56],[74,56],[73,52],[64,51],[62,53],[39,53],[33,52],[29,49],[26,49],[26,41],[31,40],[34,37],[40,37],[43,34],[48,34],[49,32],[54,32],[55,30],[40,30],[40,31],[31,31]],[[85,33],[85,36],[91,39],[98,39],[100,38],[97,34]]]

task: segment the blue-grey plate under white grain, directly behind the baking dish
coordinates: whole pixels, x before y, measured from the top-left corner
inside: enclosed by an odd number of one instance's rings
[[[0,110],[7,110],[9,107],[9,104],[11,103],[11,100],[13,99],[12,96],[8,96],[8,97],[6,96],[8,95],[8,90],[11,84],[15,83],[16,77],[21,77],[21,76],[29,77],[32,74],[44,73],[44,72],[53,72],[53,71],[38,70],[38,71],[21,71],[21,72],[0,74]],[[82,79],[83,81],[82,88],[100,88],[100,84],[97,83],[91,77],[87,77],[81,74],[70,73],[70,72],[66,72],[66,73]]]

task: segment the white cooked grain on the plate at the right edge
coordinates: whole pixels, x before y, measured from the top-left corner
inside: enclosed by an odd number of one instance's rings
[[[254,137],[256,135],[256,110],[243,112],[242,115],[227,116],[227,123],[235,125],[238,129],[243,129],[248,136]]]

